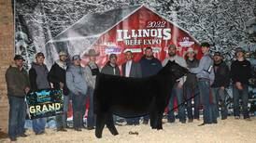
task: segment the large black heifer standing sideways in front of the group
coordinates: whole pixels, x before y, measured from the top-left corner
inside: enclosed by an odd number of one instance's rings
[[[112,135],[118,135],[113,113],[126,118],[149,114],[150,126],[163,129],[164,108],[168,104],[172,87],[187,71],[169,61],[156,75],[146,78],[98,74],[93,97],[95,136],[102,137],[105,124]]]

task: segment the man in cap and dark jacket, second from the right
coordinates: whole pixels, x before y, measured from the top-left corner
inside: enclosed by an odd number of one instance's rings
[[[219,101],[220,101],[220,108],[221,108],[221,120],[227,119],[228,110],[225,102],[226,94],[225,88],[227,88],[230,84],[230,77],[229,77],[229,68],[226,63],[222,59],[222,55],[220,52],[215,52],[213,56],[214,66],[213,70],[215,73],[215,79],[212,87],[212,97],[216,101],[216,113],[219,116]]]

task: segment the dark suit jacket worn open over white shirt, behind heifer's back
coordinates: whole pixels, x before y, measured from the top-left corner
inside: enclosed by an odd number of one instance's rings
[[[125,76],[126,62],[121,65],[122,75]],[[132,61],[129,77],[142,77],[140,64]]]

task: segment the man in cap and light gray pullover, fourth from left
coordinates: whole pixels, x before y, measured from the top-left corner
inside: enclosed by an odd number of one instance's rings
[[[73,56],[72,64],[66,70],[66,85],[72,98],[73,122],[76,131],[81,131],[83,125],[83,109],[85,108],[85,98],[88,89],[80,60],[79,55]]]

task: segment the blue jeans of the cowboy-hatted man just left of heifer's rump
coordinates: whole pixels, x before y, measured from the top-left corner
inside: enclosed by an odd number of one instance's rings
[[[93,112],[93,93],[94,89],[92,87],[88,87],[88,96],[89,97],[89,109],[88,109],[88,116],[87,116],[87,126],[92,127],[95,126],[95,115]]]

